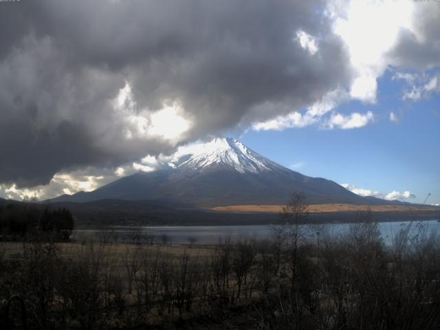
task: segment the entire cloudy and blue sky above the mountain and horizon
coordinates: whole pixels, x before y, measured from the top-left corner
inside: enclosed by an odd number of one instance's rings
[[[440,203],[440,2],[0,2],[0,197],[236,137],[360,195]]]

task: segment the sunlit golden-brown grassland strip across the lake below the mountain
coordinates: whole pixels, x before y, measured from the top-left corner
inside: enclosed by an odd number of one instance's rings
[[[231,205],[231,206],[216,206],[210,208],[216,212],[233,212],[233,213],[278,213],[281,212],[282,205]],[[360,212],[368,210],[368,205],[353,205],[353,204],[311,204],[309,205],[309,212]],[[429,211],[439,210],[439,208],[430,206],[406,206],[406,205],[377,205],[370,206],[373,212],[408,212],[408,211]]]

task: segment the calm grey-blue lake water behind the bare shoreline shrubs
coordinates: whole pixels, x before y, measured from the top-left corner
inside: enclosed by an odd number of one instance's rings
[[[379,223],[380,232],[386,242],[400,230],[406,228],[410,221],[393,221]],[[437,219],[426,221],[413,221],[410,227],[412,235],[416,234],[419,227],[423,225],[427,234],[439,232],[440,221]],[[305,228],[309,239],[316,238],[316,232],[329,234],[331,236],[343,235],[347,232],[349,223],[331,223],[326,225],[314,225],[312,228]],[[153,236],[155,242],[162,242],[164,235],[168,236],[173,244],[188,243],[189,237],[195,237],[197,243],[210,244],[218,243],[220,239],[230,237],[237,240],[243,237],[255,237],[256,239],[270,238],[272,235],[271,225],[215,225],[215,226],[163,226],[163,227],[111,227],[100,230],[74,230],[72,238],[78,241],[93,237],[111,236],[120,242],[130,242],[133,236],[140,236],[140,241],[147,241],[148,236]]]

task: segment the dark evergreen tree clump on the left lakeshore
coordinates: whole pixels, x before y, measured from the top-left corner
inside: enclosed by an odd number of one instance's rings
[[[23,203],[0,205],[0,235],[3,240],[18,240],[35,232],[44,232],[67,241],[74,225],[74,217],[66,208],[50,210]]]

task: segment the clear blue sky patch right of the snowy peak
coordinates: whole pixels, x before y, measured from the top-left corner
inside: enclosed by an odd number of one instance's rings
[[[432,76],[436,70],[429,72]],[[440,94],[403,100],[408,89],[388,69],[377,80],[377,102],[351,100],[341,113],[373,111],[375,120],[358,129],[316,126],[283,131],[248,130],[239,139],[254,151],[312,177],[377,190],[409,190],[406,201],[440,203]],[[393,111],[397,120],[390,120]]]

